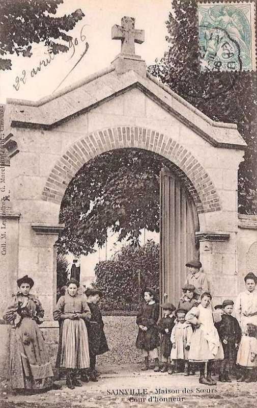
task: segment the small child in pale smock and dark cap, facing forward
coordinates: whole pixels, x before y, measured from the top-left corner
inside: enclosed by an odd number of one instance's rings
[[[175,315],[177,317],[177,323],[173,327],[172,335],[170,336],[172,351],[170,352],[171,365],[168,373],[173,373],[175,360],[184,360],[184,374],[189,375],[188,351],[193,330],[191,324],[185,321],[186,312],[183,309],[176,310]]]

